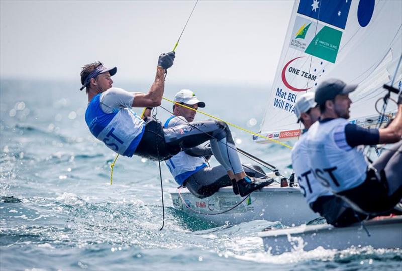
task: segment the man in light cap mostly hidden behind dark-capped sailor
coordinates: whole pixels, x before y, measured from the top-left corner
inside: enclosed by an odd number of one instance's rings
[[[322,186],[311,170],[309,149],[306,146],[306,132],[320,117],[318,104],[314,101],[314,92],[298,97],[295,104],[297,122],[302,122],[305,129],[292,149],[292,166],[303,196],[310,208],[335,227],[345,227],[367,218],[367,215],[355,212],[344,200],[335,196],[331,190]]]

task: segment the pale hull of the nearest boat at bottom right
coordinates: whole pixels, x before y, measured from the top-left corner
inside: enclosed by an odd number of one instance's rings
[[[265,251],[273,255],[295,250],[310,251],[318,247],[344,250],[351,246],[373,248],[402,247],[402,216],[382,218],[335,228],[332,225],[310,225],[290,229],[268,230],[258,234]]]

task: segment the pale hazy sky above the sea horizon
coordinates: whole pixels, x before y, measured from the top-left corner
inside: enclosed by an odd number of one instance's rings
[[[195,1],[0,1],[0,76],[75,79],[93,61],[116,80],[153,81]],[[199,1],[171,82],[267,84],[293,1]]]

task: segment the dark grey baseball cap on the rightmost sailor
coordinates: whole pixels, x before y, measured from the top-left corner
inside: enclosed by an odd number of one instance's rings
[[[357,88],[357,84],[346,84],[338,79],[328,79],[322,82],[316,89],[315,101],[323,105],[325,101],[332,100],[338,94],[348,94]]]

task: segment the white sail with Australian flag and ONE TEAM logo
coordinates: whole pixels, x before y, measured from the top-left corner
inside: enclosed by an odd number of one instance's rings
[[[298,96],[314,92],[328,78],[359,84],[350,94],[352,123],[378,122],[375,103],[386,94],[383,84],[402,87],[402,68],[396,71],[402,56],[401,11],[402,1],[393,0],[296,1],[260,134],[297,139],[302,128],[294,114]],[[390,102],[387,112],[396,110]]]

